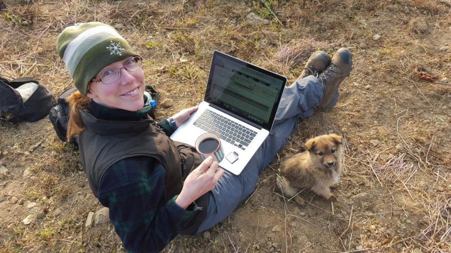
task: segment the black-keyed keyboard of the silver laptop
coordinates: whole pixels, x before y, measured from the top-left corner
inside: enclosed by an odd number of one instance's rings
[[[194,121],[193,125],[202,128],[205,131],[213,132],[217,134],[219,138],[238,146],[243,150],[246,149],[257,134],[256,131],[209,109],[206,109],[197,120]]]

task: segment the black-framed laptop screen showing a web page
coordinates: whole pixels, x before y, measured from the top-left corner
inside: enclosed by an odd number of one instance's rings
[[[204,100],[271,129],[287,78],[214,51]]]

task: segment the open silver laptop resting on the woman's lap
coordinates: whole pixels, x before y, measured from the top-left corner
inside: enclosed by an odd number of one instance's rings
[[[195,144],[213,132],[221,139],[219,166],[240,174],[271,131],[287,78],[214,51],[203,101],[170,136]]]

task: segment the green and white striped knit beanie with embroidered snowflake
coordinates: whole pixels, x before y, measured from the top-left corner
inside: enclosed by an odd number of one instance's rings
[[[57,50],[83,95],[89,82],[106,65],[138,56],[112,26],[101,22],[66,27],[58,36]]]

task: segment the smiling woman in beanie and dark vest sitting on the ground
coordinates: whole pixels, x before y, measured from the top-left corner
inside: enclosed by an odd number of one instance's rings
[[[332,62],[325,52],[314,53],[305,78],[285,88],[270,135],[235,175],[168,137],[196,106],[158,122],[147,115],[142,59],[113,27],[69,26],[57,49],[79,91],[68,99],[67,137],[78,138],[91,189],[109,207],[124,248],[137,252],[159,251],[177,234],[201,232],[227,217],[254,190],[298,117],[335,105],[352,64],[344,48]]]

